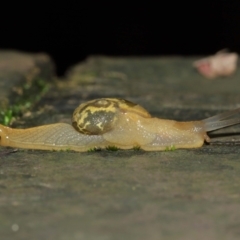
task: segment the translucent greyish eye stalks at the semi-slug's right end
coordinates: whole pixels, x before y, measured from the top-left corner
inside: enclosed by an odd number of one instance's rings
[[[240,114],[240,108],[225,113],[220,113],[203,120],[206,132],[229,127],[240,123],[240,117],[232,117]]]

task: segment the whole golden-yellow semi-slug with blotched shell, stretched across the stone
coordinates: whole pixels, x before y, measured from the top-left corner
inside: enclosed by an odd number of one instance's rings
[[[197,148],[209,142],[208,131],[240,123],[231,118],[240,108],[202,121],[177,122],[152,117],[141,106],[124,99],[100,98],[81,104],[72,126],[56,123],[28,129],[0,125],[0,145],[43,150],[74,150],[115,146],[159,151],[168,147]]]

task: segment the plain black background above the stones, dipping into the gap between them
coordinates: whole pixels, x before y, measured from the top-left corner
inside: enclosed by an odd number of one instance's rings
[[[47,52],[58,75],[93,54],[239,53],[240,0],[191,2],[8,3],[1,7],[0,48]]]

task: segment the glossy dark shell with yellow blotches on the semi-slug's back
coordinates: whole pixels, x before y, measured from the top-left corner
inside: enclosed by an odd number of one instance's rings
[[[80,133],[100,135],[112,130],[119,113],[131,112],[145,118],[151,115],[143,107],[118,98],[100,98],[77,107],[73,113],[72,125]]]

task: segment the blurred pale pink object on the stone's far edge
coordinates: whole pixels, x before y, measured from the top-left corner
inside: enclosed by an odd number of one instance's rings
[[[200,59],[193,63],[193,66],[206,78],[228,76],[234,73],[237,66],[237,53],[229,53],[221,50],[215,55]]]

